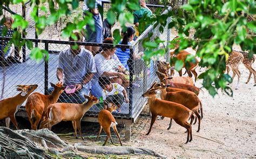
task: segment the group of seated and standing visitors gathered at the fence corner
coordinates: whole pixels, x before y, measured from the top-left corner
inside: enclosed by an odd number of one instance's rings
[[[142,9],[134,11],[134,25],[138,27],[139,19],[146,12],[148,16],[152,15],[145,1],[140,1]],[[77,40],[70,38],[70,41],[113,44],[111,27],[105,19],[102,23],[102,17],[98,11],[101,1],[96,0],[95,8],[89,9],[84,0],[84,17],[87,12],[93,14],[95,20],[95,31],[90,26],[85,26],[87,34],[75,32]],[[146,28],[145,28],[146,29]],[[131,45],[135,37],[136,30],[133,26],[127,26],[126,31],[122,31],[123,39],[119,44]],[[84,94],[91,93],[97,98],[102,98],[104,108],[112,102],[118,108],[124,102],[129,102],[126,89],[129,89],[129,65],[127,61],[130,58],[130,49],[122,47],[113,47],[113,45],[103,46],[78,46],[73,49],[59,53],[57,78],[64,86],[75,85],[76,91],[73,94],[62,93],[59,102],[78,102],[82,103],[86,99]],[[49,90],[49,93],[52,89]],[[120,109],[119,109],[120,111]]]

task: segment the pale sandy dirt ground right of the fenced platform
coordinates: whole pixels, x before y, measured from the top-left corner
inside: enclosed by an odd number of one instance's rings
[[[134,147],[145,147],[167,157],[256,157],[256,87],[252,78],[245,84],[249,71],[239,66],[241,71],[240,88],[235,90],[237,77],[231,87],[233,97],[221,91],[214,98],[204,89],[199,94],[203,102],[204,118],[200,132],[197,124],[192,126],[193,140],[188,144],[185,129],[173,122],[167,130],[170,119],[157,120],[149,136],[150,117],[140,116],[133,125],[132,141]],[[253,68],[256,68],[254,63]],[[199,74],[201,72],[199,68]],[[201,87],[202,80],[196,82]]]

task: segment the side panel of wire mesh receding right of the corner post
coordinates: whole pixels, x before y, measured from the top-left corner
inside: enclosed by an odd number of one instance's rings
[[[166,13],[166,12],[163,12]],[[171,18],[167,19],[167,24],[171,22]],[[148,38],[149,34],[152,33],[152,37],[150,40],[154,40],[155,38],[159,37],[162,40],[170,40],[171,38],[171,29],[168,29],[166,26],[164,28],[163,33],[160,33],[159,31],[160,25],[158,25],[156,28],[153,28],[150,26],[148,29],[146,29],[143,34],[134,42],[133,44],[133,52],[136,54],[140,54],[145,52],[145,49],[143,47],[143,40],[145,38]],[[167,46],[167,42],[164,44],[161,44],[159,48],[164,48]],[[156,71],[156,61],[162,60],[162,61],[169,61],[170,60],[170,53],[169,50],[167,50],[167,53],[164,57],[162,56],[156,56],[154,58],[151,58],[150,61],[147,61],[145,63],[142,59],[135,59],[133,63],[133,89],[132,89],[132,110],[131,114],[132,117],[135,117],[139,114],[139,112],[142,110],[143,106],[146,103],[146,99],[142,98],[142,94],[146,92],[147,89],[150,88],[150,86],[153,84],[154,81],[158,81]]]

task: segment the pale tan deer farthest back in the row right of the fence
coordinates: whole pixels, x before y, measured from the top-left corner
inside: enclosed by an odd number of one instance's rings
[[[179,84],[186,84],[186,85],[194,85],[193,79],[190,77],[179,77],[179,76],[167,76],[164,73],[156,72],[159,80],[165,84],[169,84],[169,82],[176,82]]]

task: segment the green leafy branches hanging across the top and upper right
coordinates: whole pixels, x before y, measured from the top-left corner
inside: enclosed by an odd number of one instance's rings
[[[24,5],[25,2],[25,0],[0,1],[0,5]],[[78,8],[78,4],[79,0],[32,0],[30,5],[34,6],[34,8],[31,12],[31,17],[35,20],[37,34],[42,33],[46,26],[55,24],[59,18],[70,16],[72,11]],[[163,4],[166,4],[166,2],[163,1]],[[95,0],[87,0],[87,5],[91,9],[94,8]],[[41,16],[37,16],[38,8],[42,11]],[[139,9],[138,0],[112,0],[111,8],[107,11],[107,19],[111,24],[118,20],[122,29],[125,30],[126,23],[133,23],[132,12]],[[165,9],[167,9],[167,6]],[[47,15],[49,11],[50,15]],[[226,87],[226,83],[231,82],[231,78],[229,75],[224,74],[226,59],[228,53],[232,51],[232,45],[234,43],[239,44],[242,50],[249,51],[249,57],[252,57],[256,52],[256,38],[255,36],[250,36],[247,32],[247,30],[256,32],[256,21],[253,19],[251,23],[248,23],[247,16],[244,13],[250,17],[255,15],[254,0],[231,0],[224,3],[221,0],[189,0],[188,4],[183,5],[177,11],[169,11],[165,15],[161,14],[161,9],[157,9],[154,12],[154,16],[143,15],[142,20],[139,21],[138,30],[143,31],[145,26],[149,24],[154,24],[154,27],[159,28],[160,32],[163,32],[165,26],[169,29],[175,27],[180,36],[180,50],[189,46],[193,48],[198,47],[196,55],[201,59],[199,65],[207,68],[206,72],[199,75],[199,78],[204,79],[203,86],[208,89],[212,96],[217,93],[218,89],[222,89],[225,93],[232,95],[231,88]],[[0,16],[2,15],[3,11],[0,10]],[[40,61],[40,59],[44,58],[47,60],[48,53],[45,50],[32,48],[31,42],[25,42],[21,38],[20,29],[25,29],[28,26],[28,22],[19,15],[12,17],[15,19],[12,27],[17,28],[18,31],[14,32],[10,43],[14,43],[19,49],[26,43],[28,48],[32,49],[32,59]],[[172,18],[172,21],[167,23],[166,19],[169,17]],[[3,19],[1,24],[3,24]],[[78,14],[73,22],[66,24],[62,31],[62,36],[68,38],[73,30],[82,31],[84,25],[89,25],[94,29],[92,13],[86,12],[84,19],[81,14]],[[188,31],[191,28],[196,30],[194,39],[199,40],[185,38],[188,36]],[[3,30],[3,33],[5,32],[6,29]],[[114,44],[118,44],[121,38],[120,31],[114,30],[113,37],[115,39]],[[146,50],[144,56],[146,60],[158,54],[163,55],[167,50],[167,48],[158,49],[159,44],[163,43],[163,40],[166,39],[155,38],[152,41],[151,37],[152,34],[149,34],[143,41],[143,46]],[[169,42],[170,45],[167,47],[173,49],[176,43],[177,41]],[[192,59],[193,57],[187,57],[186,60],[193,62]],[[180,70],[181,66],[184,65],[183,61],[176,59],[173,60],[173,63],[176,66],[176,70]],[[186,65],[187,62],[185,61]]]

